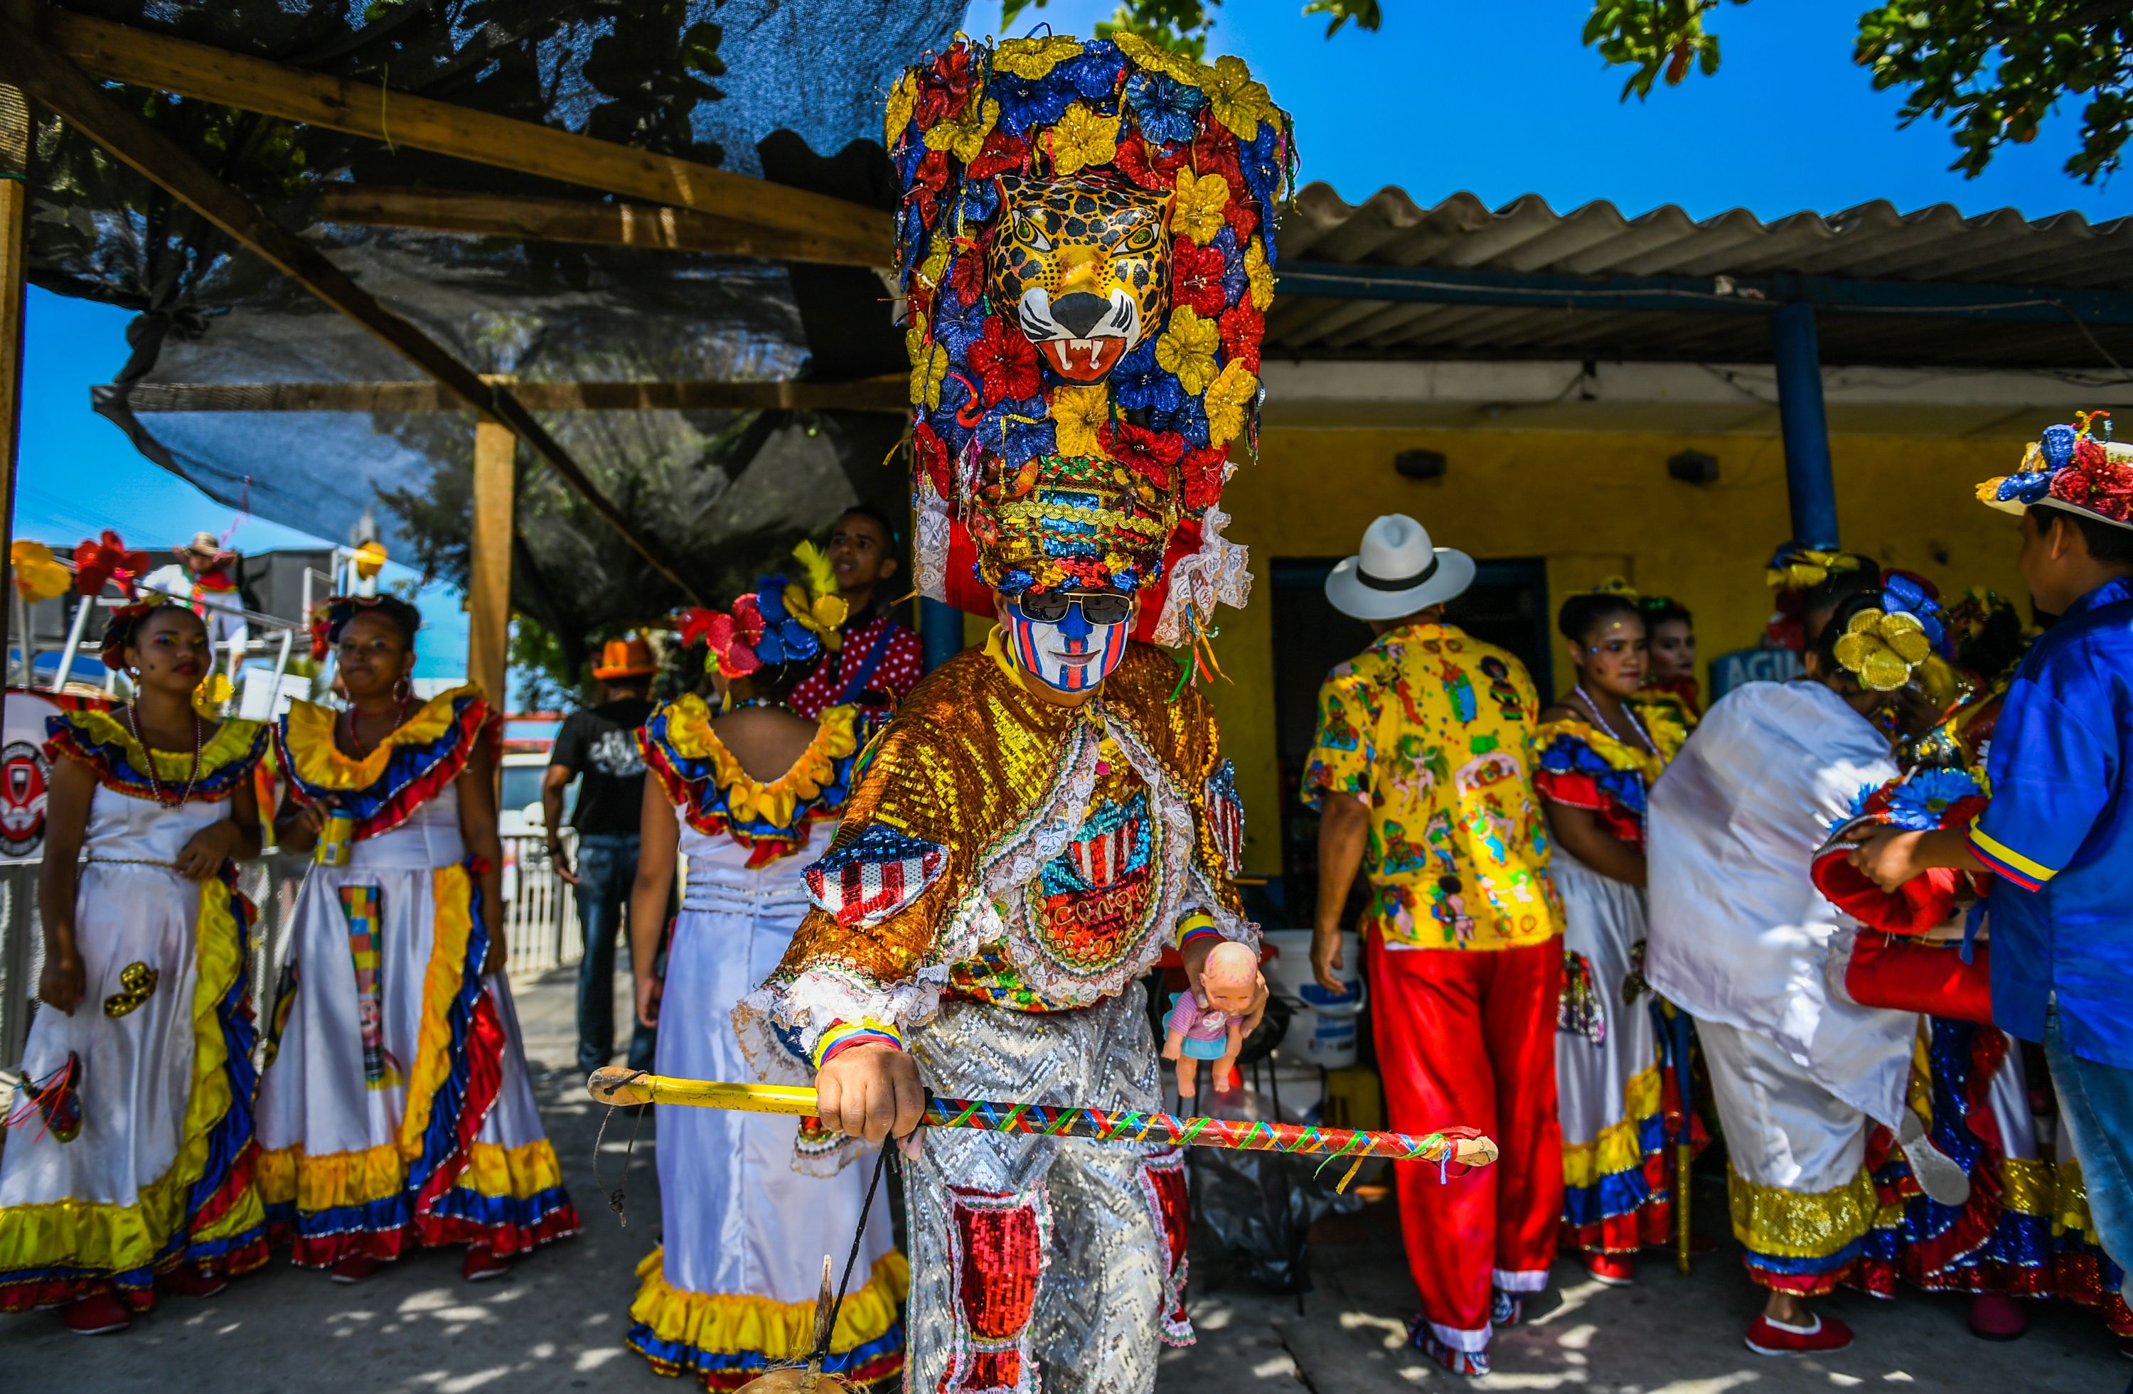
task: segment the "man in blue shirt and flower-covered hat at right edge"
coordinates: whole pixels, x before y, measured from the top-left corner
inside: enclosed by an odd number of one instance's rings
[[[2058,622],[2007,691],[1969,829],[1881,829],[1883,889],[1992,872],[1992,1019],[2041,1040],[2103,1249],[2133,1268],[2133,448],[2052,426],[1979,486],[2022,514],[2022,582]]]

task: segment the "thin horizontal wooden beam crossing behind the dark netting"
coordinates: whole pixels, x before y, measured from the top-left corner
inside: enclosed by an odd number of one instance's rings
[[[860,382],[514,382],[529,411],[885,411],[909,409],[902,377]],[[134,411],[465,411],[435,382],[143,382]]]

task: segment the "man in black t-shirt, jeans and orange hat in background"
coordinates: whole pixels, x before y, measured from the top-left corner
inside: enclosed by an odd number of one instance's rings
[[[644,806],[638,727],[653,714],[646,691],[659,667],[644,639],[614,639],[599,659],[593,676],[604,684],[606,699],[563,718],[540,787],[548,861],[578,889],[578,925],[584,929],[584,959],[578,963],[580,1070],[597,1070],[614,1055],[614,936],[638,878],[638,816]],[[572,780],[578,780],[578,806],[570,814],[578,831],[576,870],[561,833],[563,791]],[[653,1030],[642,1021],[629,1036],[629,1068],[653,1068]]]

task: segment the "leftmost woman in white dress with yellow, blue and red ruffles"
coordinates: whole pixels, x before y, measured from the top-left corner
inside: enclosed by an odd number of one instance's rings
[[[267,731],[194,710],[213,650],[181,605],[117,610],[102,657],[134,699],[47,720],[43,1008],[0,1160],[0,1311],[81,1334],[267,1262],[232,868],[260,850]]]

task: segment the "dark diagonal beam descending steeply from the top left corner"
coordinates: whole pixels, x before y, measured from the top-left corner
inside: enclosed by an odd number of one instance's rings
[[[83,77],[79,68],[45,47],[43,40],[6,19],[0,19],[0,79],[13,81],[32,98],[58,111],[119,162],[164,188],[173,198],[264,258],[275,271],[378,335],[386,345],[444,384],[467,407],[510,426],[659,576],[674,582],[695,603],[702,603],[695,588],[665,565],[659,550],[599,492],[593,480],[570,458],[570,452],[533,420],[533,414],[508,388],[482,382],[474,369],[452,358],[444,345],[380,305],[371,292],[356,286],[354,277],[328,262],[318,247],[288,232],[243,194],[222,183],[192,151],[122,107],[111,94]]]

